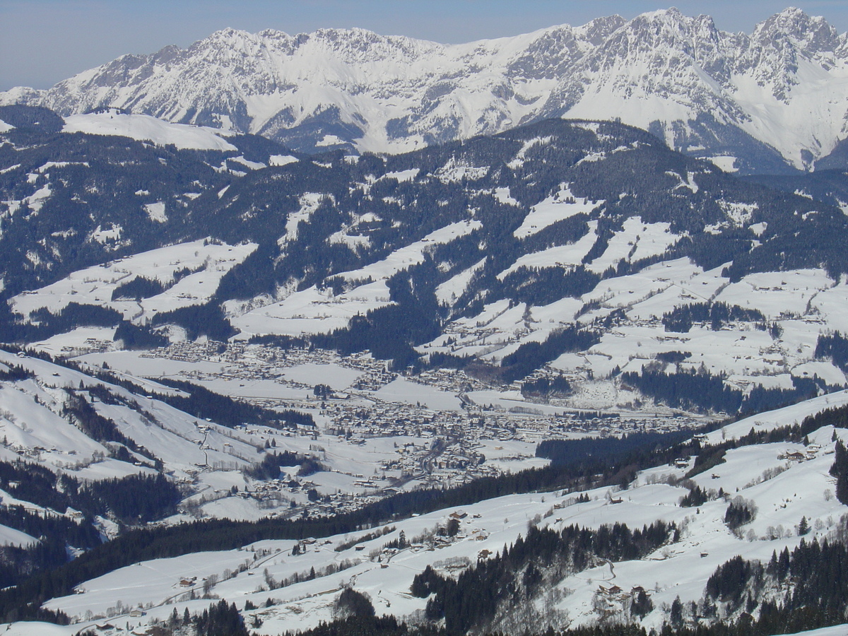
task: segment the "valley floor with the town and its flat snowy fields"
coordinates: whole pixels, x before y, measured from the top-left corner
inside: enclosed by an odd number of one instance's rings
[[[518,383],[498,391],[463,371],[390,371],[367,354],[212,341],[90,351],[75,361],[116,377],[144,377],[153,394],[173,390],[159,379],[189,381],[266,409],[309,413],[315,421],[282,428],[246,421],[232,429],[199,422],[200,432],[231,440],[214,443],[204,435],[197,440],[201,449],[231,455],[232,462],[218,459],[177,471],[192,494],[165,523],[204,516],[332,516],[404,490],[453,487],[545,466],[549,460],[536,456],[544,439],[621,437],[700,423],[667,409],[601,412],[568,407],[566,400],[529,401]],[[244,453],[246,444],[256,455]],[[309,459],[310,470],[281,466],[278,476],[248,477],[246,464],[286,452]],[[242,504],[234,508],[235,499]]]

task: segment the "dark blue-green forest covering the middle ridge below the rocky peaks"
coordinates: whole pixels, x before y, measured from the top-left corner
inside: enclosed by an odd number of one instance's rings
[[[19,316],[0,303],[0,326],[18,341],[47,338],[74,326],[119,326],[115,338],[126,347],[152,347],[163,343],[160,328],[170,324],[184,327],[189,338],[224,340],[234,333],[221,309],[227,300],[273,295],[283,287],[342,293],[357,282],[339,274],[385,259],[430,232],[471,220],[474,229],[466,236],[428,246],[423,262],[388,277],[393,304],[307,339],[342,353],[367,349],[403,368],[426,364],[414,348],[437,338],[449,321],[475,315],[486,304],[506,299],[512,305],[541,306],[580,298],[605,279],[638,273],[660,260],[685,257],[705,269],[729,263],[725,274],[731,282],[760,271],[823,267],[834,278],[848,271],[842,247],[848,222],[838,208],[740,181],[673,152],[648,132],[613,122],[544,120],[401,155],[364,153],[351,161],[342,151],[295,153],[298,161],[274,166],[268,165],[272,154],[291,153],[256,137],[233,137],[238,151],[178,150],[121,137],[63,134],[53,126],[60,118],[43,109],[37,114],[25,107],[7,111],[21,126],[3,133],[8,143],[0,147],[0,166],[8,165],[8,170],[0,174],[0,200],[22,201],[39,188],[49,189],[50,196],[40,203],[37,216],[13,215],[2,222],[0,271],[6,284],[0,298],[56,282],[87,265],[210,234],[213,240],[258,246],[226,272],[208,302],[161,312],[144,326],[101,307],[69,304],[55,315],[36,310]],[[32,120],[53,124],[33,126]],[[217,167],[239,152],[267,167],[247,172]],[[587,157],[594,159],[583,160]],[[49,171],[41,170],[45,165]],[[473,168],[473,178],[449,176],[452,166]],[[415,170],[416,176],[397,178],[406,170]],[[34,181],[22,178],[26,174]],[[697,187],[681,189],[682,181]],[[583,200],[585,209],[516,236],[533,206],[558,197],[566,186],[567,200]],[[509,192],[509,200],[496,192]],[[298,223],[298,240],[286,240],[289,217],[302,209],[307,196],[315,198],[315,209]],[[167,218],[150,218],[145,206],[153,203],[165,205]],[[750,219],[741,226],[728,224],[725,204],[751,209]],[[95,210],[92,218],[89,210]],[[634,217],[644,224],[668,224],[680,238],[663,254],[633,262],[628,256],[605,271],[591,269],[591,261]],[[597,236],[583,262],[521,265],[510,271],[522,256],[582,240],[593,231],[590,223]],[[761,234],[749,227],[758,224]],[[120,241],[86,239],[107,230]],[[357,237],[355,247],[332,239],[339,234]],[[34,241],[36,236],[47,237],[43,245]],[[36,265],[27,254],[33,259],[37,255]],[[476,264],[482,265],[466,289],[450,304],[438,303],[438,286]],[[177,271],[175,282],[185,273]],[[136,276],[112,295],[148,298],[168,284]],[[667,329],[683,332],[699,321],[713,329],[732,321],[771,327],[757,310],[719,302],[689,304],[664,318]],[[604,327],[564,326],[550,334],[546,346],[524,343],[506,356],[500,379],[521,380],[553,360],[556,352],[585,350]],[[819,354],[827,355],[826,349],[823,345]],[[762,404],[781,399],[791,398],[767,396]],[[719,396],[709,406],[695,407],[729,409],[734,402]]]

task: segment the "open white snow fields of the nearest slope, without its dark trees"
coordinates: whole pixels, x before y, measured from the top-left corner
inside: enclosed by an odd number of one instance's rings
[[[790,423],[793,418],[845,402],[848,402],[845,394],[837,394],[829,400],[797,404],[789,410],[758,416],[757,426],[767,426],[768,421]],[[711,439],[736,436],[747,432],[745,427],[750,427],[750,422],[737,422],[721,432],[711,433]],[[259,610],[245,612],[245,616],[260,616],[264,624],[258,631],[263,634],[284,631],[293,616],[297,616],[299,628],[315,627],[321,621],[330,620],[333,600],[343,585],[370,594],[378,615],[391,613],[409,619],[426,603],[409,594],[417,572],[427,565],[440,570],[451,562],[477,561],[482,550],[494,554],[526,533],[528,523],[599,527],[622,522],[641,527],[661,519],[678,524],[681,538],[677,543],[667,544],[639,561],[594,566],[566,577],[558,586],[562,600],[557,605],[567,612],[572,624],[592,622],[598,617],[593,600],[599,585],[617,585],[624,590],[641,586],[649,592],[656,608],[644,624],[658,627],[667,619],[663,606],[667,608],[666,604],[678,596],[684,602],[699,600],[704,594],[706,578],[732,556],[767,561],[774,550],[779,552],[784,547],[791,550],[801,541],[797,531],[801,517],[806,517],[812,528],[807,541],[824,538],[834,530],[840,517],[848,512],[831,492],[833,479],[828,469],[833,463],[834,434],[848,439],[845,430],[834,432],[832,427],[825,427],[810,435],[811,444],[815,444],[812,451],[800,444],[762,444],[731,450],[725,463],[695,477],[695,483],[703,488],[722,488],[730,496],[740,495],[756,503],[756,519],[739,534],[731,533],[723,522],[728,505],[724,499],[713,499],[697,509],[678,504],[687,491],[668,485],[667,480],[682,477],[686,467],[656,466],[640,472],[627,490],[589,491],[587,503],[577,504],[573,495],[551,492],[510,495],[467,505],[462,509],[466,516],[460,522],[460,533],[455,540],[434,551],[427,549],[426,539],[421,547],[416,547],[421,541],[418,537],[444,524],[454,509],[395,522],[396,530],[360,544],[364,547],[359,549],[351,546],[339,552],[334,550],[338,544],[364,532],[319,538],[308,544],[302,555],[292,555],[294,541],[281,540],[249,544],[238,550],[147,561],[86,581],[79,586],[81,594],[50,600],[46,606],[75,616],[81,621],[75,625],[77,629],[91,624],[86,616],[116,612],[118,615],[112,616],[111,622],[120,625],[129,622],[132,627],[153,618],[165,619],[174,607],[179,614],[186,607],[189,611],[201,611],[208,601],[191,600],[191,590],[199,592],[204,579],[212,577],[211,580],[218,582],[214,592],[221,598],[235,602],[238,607],[248,600],[259,606]],[[787,452],[796,450],[810,451],[806,455],[808,459],[784,459]],[[613,504],[611,499],[622,501]],[[396,538],[400,531],[413,542],[413,547],[396,553],[382,550],[382,545]],[[346,569],[336,572],[342,564]],[[321,576],[327,567],[334,573]],[[275,582],[295,573],[309,572],[311,568],[319,574],[314,580],[268,589],[269,583],[275,587]],[[181,585],[181,580],[187,583]],[[271,605],[265,607],[269,598]],[[128,619],[126,611],[136,606],[144,606],[147,615]],[[26,633],[20,631],[21,626],[14,629],[19,630],[14,633]],[[832,633],[841,632],[818,630],[812,634]]]

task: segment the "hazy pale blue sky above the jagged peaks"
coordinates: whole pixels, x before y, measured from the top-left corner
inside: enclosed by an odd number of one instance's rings
[[[186,47],[227,26],[290,34],[360,26],[453,43],[672,5],[710,14],[725,31],[750,32],[789,5],[848,31],[848,0],[0,0],[0,91],[47,88],[123,53]]]

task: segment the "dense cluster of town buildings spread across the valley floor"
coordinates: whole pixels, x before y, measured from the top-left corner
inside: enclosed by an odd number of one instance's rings
[[[304,478],[280,478],[252,482],[247,492],[242,490],[237,494],[258,500],[271,516],[330,516],[404,489],[441,488],[446,483],[459,485],[506,470],[521,470],[532,464],[527,460],[533,459],[535,444],[544,439],[661,432],[694,423],[679,416],[637,413],[565,409],[557,412],[550,408],[546,412],[533,412],[533,404],[529,402],[526,409],[505,410],[497,406],[481,408],[466,400],[461,410],[433,410],[421,404],[385,401],[375,392],[398,375],[388,371],[383,361],[367,354],[342,357],[323,349],[207,342],[175,343],[145,355],[195,363],[217,362],[228,379],[270,378],[288,388],[310,389],[302,393],[303,399],[292,398],[289,392],[284,399],[252,401],[266,408],[308,411],[318,422],[316,429],[272,431],[249,424],[237,427],[237,437],[248,443],[268,444],[273,438],[274,448],[282,450],[290,445],[285,438],[305,435],[312,440],[320,438],[321,444],[338,453],[340,446],[346,444],[363,446],[374,438],[396,438],[393,452],[388,447],[375,459],[374,466],[369,467],[369,471],[374,469],[373,475],[349,475],[347,487],[322,488],[321,477],[311,477],[314,483]],[[298,365],[337,365],[337,369],[343,367],[360,374],[340,392],[323,383],[310,387],[287,379],[287,368]],[[213,375],[204,379],[213,379]],[[406,379],[460,397],[473,391],[491,390],[485,382],[451,369],[422,371]],[[332,465],[328,467],[333,469]],[[311,496],[307,497],[310,491]]]

